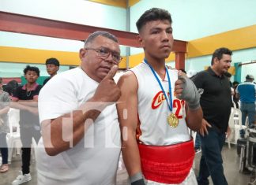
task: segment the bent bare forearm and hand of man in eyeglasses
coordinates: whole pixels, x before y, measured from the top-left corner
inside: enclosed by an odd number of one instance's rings
[[[117,66],[112,67],[100,82],[93,97],[77,110],[53,120],[43,120],[42,137],[47,154],[54,156],[77,145],[101,111],[119,99],[120,90],[113,80],[117,70]]]

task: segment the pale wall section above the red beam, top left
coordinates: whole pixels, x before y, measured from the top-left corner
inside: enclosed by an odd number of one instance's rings
[[[126,30],[126,9],[85,0],[1,0],[0,10],[77,24]]]

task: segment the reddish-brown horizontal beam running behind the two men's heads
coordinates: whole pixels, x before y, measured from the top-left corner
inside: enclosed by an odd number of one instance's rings
[[[85,40],[89,34],[98,30],[111,32],[119,39],[121,45],[140,47],[136,40],[137,33],[0,11],[0,31],[60,39]],[[175,40],[172,51],[186,53],[186,42]]]

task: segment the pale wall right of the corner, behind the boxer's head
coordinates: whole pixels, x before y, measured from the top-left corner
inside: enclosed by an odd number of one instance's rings
[[[171,13],[174,38],[185,41],[256,24],[254,0],[141,0],[130,8],[130,31],[137,32],[137,19],[152,7],[167,9]],[[131,54],[141,52],[131,49]],[[186,59],[185,69],[199,72],[210,65],[211,58],[209,55]],[[256,60],[256,48],[237,50],[232,55],[232,63],[252,60]],[[168,65],[174,67],[175,62]],[[248,72],[254,74],[254,71],[255,65],[244,65],[241,79]]]

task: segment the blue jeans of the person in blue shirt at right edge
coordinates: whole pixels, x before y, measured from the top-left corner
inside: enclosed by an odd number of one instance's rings
[[[242,112],[242,124],[245,125],[245,121],[247,119],[249,119],[249,127],[251,124],[254,124],[254,120],[255,120],[255,103],[245,103],[245,102],[241,102],[241,112]]]

